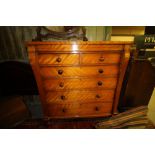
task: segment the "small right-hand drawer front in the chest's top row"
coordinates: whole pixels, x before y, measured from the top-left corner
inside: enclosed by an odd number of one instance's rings
[[[120,53],[82,54],[82,64],[118,64]]]

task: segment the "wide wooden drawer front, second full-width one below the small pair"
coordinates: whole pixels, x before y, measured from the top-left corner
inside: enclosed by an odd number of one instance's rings
[[[46,79],[43,82],[44,89],[114,89],[117,78],[80,78],[80,79]]]

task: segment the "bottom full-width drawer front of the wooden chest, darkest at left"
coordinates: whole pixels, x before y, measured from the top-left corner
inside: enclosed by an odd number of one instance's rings
[[[52,118],[94,117],[111,115],[112,103],[47,104],[47,116]]]

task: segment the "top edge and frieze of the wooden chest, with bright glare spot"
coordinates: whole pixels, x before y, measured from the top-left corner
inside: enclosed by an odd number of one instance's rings
[[[28,42],[28,46],[35,46],[38,52],[93,52],[93,51],[117,51],[123,50],[124,45],[130,45],[131,42]]]

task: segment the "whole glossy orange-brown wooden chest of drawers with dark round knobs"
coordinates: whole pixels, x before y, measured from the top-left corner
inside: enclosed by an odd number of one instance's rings
[[[117,113],[131,42],[29,42],[30,63],[47,118]]]

